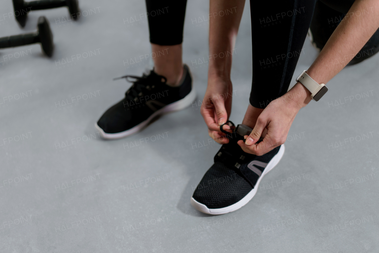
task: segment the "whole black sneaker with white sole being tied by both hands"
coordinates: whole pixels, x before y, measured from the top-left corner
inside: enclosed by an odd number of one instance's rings
[[[229,143],[222,145],[217,152],[215,163],[191,197],[191,204],[197,210],[206,214],[226,214],[239,209],[254,197],[263,176],[280,161],[284,145],[263,156],[246,153],[238,146],[237,141],[244,140],[244,135],[251,131],[250,127],[241,124],[233,133],[227,134]]]

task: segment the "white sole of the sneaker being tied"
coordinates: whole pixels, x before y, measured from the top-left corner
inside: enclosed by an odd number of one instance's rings
[[[194,206],[200,212],[204,212],[205,214],[213,214],[213,215],[227,214],[228,212],[233,212],[233,211],[236,211],[237,209],[240,209],[241,207],[246,205],[254,197],[255,193],[257,193],[258,185],[259,185],[260,181],[262,180],[263,176],[266,173],[268,173],[270,170],[272,170],[275,167],[275,165],[277,165],[279,163],[280,159],[282,159],[282,157],[283,157],[283,154],[284,154],[284,145],[282,145],[279,148],[279,151],[277,152],[277,154],[267,164],[262,175],[258,178],[258,181],[255,184],[254,189],[252,189],[249,193],[247,193],[247,195],[244,196],[240,201],[232,204],[231,206],[217,208],[217,209],[209,209],[207,206],[197,202],[193,197],[191,197],[192,206]]]

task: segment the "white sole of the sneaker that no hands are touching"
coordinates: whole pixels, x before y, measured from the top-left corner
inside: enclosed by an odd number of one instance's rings
[[[182,109],[186,108],[187,106],[191,105],[191,103],[195,99],[196,99],[196,91],[192,87],[191,92],[189,92],[187,96],[183,97],[182,99],[180,99],[176,102],[173,102],[171,104],[168,104],[168,105],[160,108],[159,110],[154,112],[152,115],[150,115],[149,118],[147,118],[145,121],[139,123],[137,126],[132,127],[131,129],[128,129],[124,132],[119,132],[119,133],[115,133],[115,134],[108,134],[108,133],[104,132],[104,130],[101,127],[99,127],[99,125],[97,125],[97,123],[95,123],[95,127],[97,130],[99,130],[100,136],[104,139],[114,140],[114,139],[124,138],[124,137],[127,137],[129,135],[135,134],[139,130],[143,129],[156,116],[164,114],[164,113],[168,113],[168,112],[175,112],[175,111],[182,110]]]

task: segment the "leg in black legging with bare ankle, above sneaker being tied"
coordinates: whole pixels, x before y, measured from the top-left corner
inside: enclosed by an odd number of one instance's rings
[[[250,2],[253,80],[243,124],[254,128],[264,108],[288,90],[303,52],[315,0]],[[259,10],[259,15],[254,14]]]

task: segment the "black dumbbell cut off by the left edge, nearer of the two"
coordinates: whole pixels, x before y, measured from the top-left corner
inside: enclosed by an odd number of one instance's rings
[[[42,50],[49,57],[53,55],[53,34],[50,30],[49,21],[46,17],[38,18],[37,31],[0,38],[0,48],[19,47],[34,43],[41,43]]]

